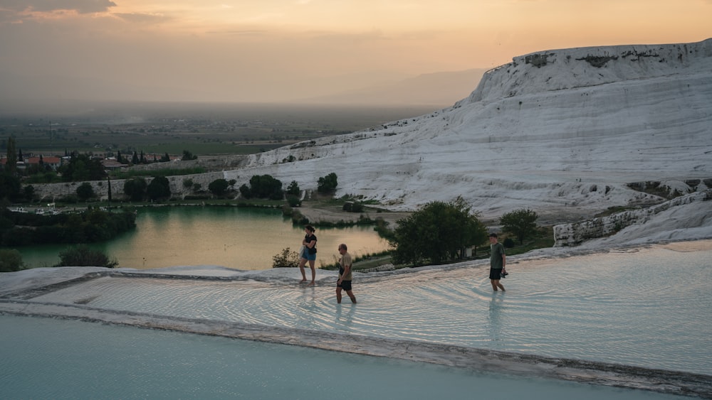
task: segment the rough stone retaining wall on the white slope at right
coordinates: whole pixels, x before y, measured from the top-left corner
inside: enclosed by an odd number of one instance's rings
[[[652,215],[669,210],[671,207],[709,200],[712,200],[712,189],[684,195],[652,207],[628,210],[573,224],[556,225],[554,227],[554,247],[576,246],[587,239],[606,237],[629,225],[643,223]]]

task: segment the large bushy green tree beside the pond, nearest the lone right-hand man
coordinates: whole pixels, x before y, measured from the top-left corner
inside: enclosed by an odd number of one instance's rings
[[[462,198],[434,201],[398,220],[390,244],[397,264],[441,264],[464,255],[466,247],[483,244],[487,229]]]

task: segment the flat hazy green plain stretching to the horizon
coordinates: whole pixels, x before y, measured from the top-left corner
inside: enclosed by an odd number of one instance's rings
[[[346,134],[431,112],[423,107],[328,107],[276,104],[98,104],[87,112],[0,114],[0,139],[16,138],[24,156],[99,156],[143,152],[152,161],[181,156],[250,154],[298,141]],[[0,151],[6,140],[0,140]]]

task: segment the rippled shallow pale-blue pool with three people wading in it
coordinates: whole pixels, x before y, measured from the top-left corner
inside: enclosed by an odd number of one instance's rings
[[[654,247],[510,264],[493,293],[484,264],[357,274],[359,303],[281,281],[105,277],[33,301],[424,340],[712,373],[712,250]]]

